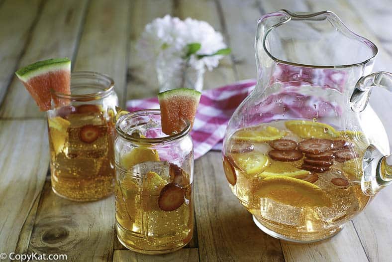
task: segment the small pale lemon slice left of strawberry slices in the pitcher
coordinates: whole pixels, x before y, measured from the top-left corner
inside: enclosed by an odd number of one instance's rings
[[[234,163],[248,175],[263,172],[271,162],[267,155],[255,152],[232,154],[231,156]]]

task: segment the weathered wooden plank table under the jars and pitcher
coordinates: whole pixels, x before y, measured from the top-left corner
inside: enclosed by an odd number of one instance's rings
[[[369,3],[371,2],[371,3]],[[375,70],[392,71],[389,0],[0,0],[0,252],[67,254],[68,261],[391,261],[392,190],[385,189],[336,237],[295,245],[262,233],[227,186],[220,152],[195,162],[196,234],[184,249],[145,256],[124,249],[114,231],[114,198],[76,203],[57,197],[49,179],[45,114],[14,71],[51,57],[72,69],[111,75],[121,105],[155,96],[155,72],[135,52],[144,25],[170,13],[205,20],[232,55],[205,74],[205,88],[255,78],[256,20],[277,9],[330,9],[380,49]],[[391,95],[371,104],[392,131]]]

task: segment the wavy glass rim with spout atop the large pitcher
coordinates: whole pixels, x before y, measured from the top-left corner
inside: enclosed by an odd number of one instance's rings
[[[348,67],[356,67],[356,66],[365,65],[365,64],[369,63],[370,61],[372,61],[372,60],[377,56],[377,54],[379,53],[379,49],[378,49],[378,47],[375,45],[375,43],[373,43],[371,40],[369,40],[369,39],[367,39],[367,38],[365,38],[365,37],[363,37],[363,36],[361,36],[361,35],[359,35],[359,34],[353,32],[350,28],[348,28],[348,27],[346,26],[346,24],[345,24],[345,23],[339,18],[339,16],[337,16],[333,11],[324,10],[324,11],[319,11],[319,12],[302,12],[303,14],[299,14],[298,12],[292,12],[292,11],[290,11],[290,10],[288,10],[288,9],[280,9],[280,10],[278,10],[278,11],[276,11],[276,12],[268,13],[268,14],[274,14],[274,13],[279,13],[279,12],[284,12],[284,13],[286,13],[286,14],[289,16],[289,18],[286,19],[285,21],[279,22],[279,23],[277,23],[277,24],[271,26],[271,28],[268,29],[268,31],[266,32],[266,34],[264,35],[264,38],[263,38],[263,48],[264,48],[264,51],[268,54],[268,56],[269,56],[272,60],[274,60],[274,61],[277,62],[277,63],[287,64],[287,65],[292,65],[292,66],[298,66],[298,67],[309,67],[309,68],[348,68]],[[355,35],[356,37],[360,38],[364,44],[366,44],[366,45],[368,45],[368,46],[369,46],[369,44],[370,44],[369,47],[371,47],[372,49],[374,49],[374,54],[373,54],[370,58],[368,58],[368,59],[366,59],[366,60],[364,60],[364,61],[362,61],[362,62],[354,63],[354,64],[347,64],[347,65],[308,65],[308,64],[294,63],[294,62],[289,62],[289,61],[281,60],[281,59],[279,59],[279,58],[273,56],[273,55],[267,50],[266,45],[265,45],[265,41],[266,41],[267,35],[268,35],[268,34],[272,31],[272,29],[274,29],[275,27],[278,27],[278,26],[280,26],[280,25],[282,25],[282,24],[284,24],[284,23],[289,22],[291,19],[293,19],[293,17],[294,17],[294,18],[310,18],[310,17],[318,16],[318,15],[320,15],[320,14],[325,14],[325,13],[332,14],[336,19],[339,20],[339,22],[342,24],[343,27],[345,27],[348,31],[350,31],[350,32],[351,32],[353,35]],[[265,15],[268,15],[268,14],[265,14]],[[265,15],[263,15],[263,16],[259,19],[259,21],[260,21]]]

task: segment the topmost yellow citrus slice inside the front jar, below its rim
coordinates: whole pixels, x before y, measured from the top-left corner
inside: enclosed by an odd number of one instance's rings
[[[121,159],[121,164],[125,169],[130,169],[136,164],[147,161],[159,161],[157,150],[145,147],[137,147],[132,151],[124,154]]]

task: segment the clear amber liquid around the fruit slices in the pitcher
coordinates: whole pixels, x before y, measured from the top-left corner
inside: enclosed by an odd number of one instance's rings
[[[287,131],[283,138],[296,142],[303,140],[287,130],[284,121],[263,125]],[[228,139],[225,145],[225,154],[230,155],[231,145],[238,142],[235,139]],[[350,142],[356,144],[356,141]],[[268,142],[254,143],[253,152],[268,155],[268,151],[272,149]],[[322,194],[323,198],[318,205],[302,204],[300,200],[290,204],[279,201],[279,198],[260,197],[255,192],[262,186],[263,178],[257,175],[247,175],[238,168],[235,168],[237,182],[234,186],[230,185],[230,188],[240,203],[254,215],[257,222],[270,231],[269,234],[298,242],[321,240],[339,232],[341,226],[361,212],[370,200],[370,197],[364,195],[361,190],[363,148],[354,145],[352,149],[356,151],[358,157],[350,160],[351,166],[347,164],[348,162],[334,161],[328,171],[318,173],[318,180],[313,184],[319,189],[304,189],[303,191],[301,191],[302,188],[299,189],[299,192],[303,192],[306,197],[310,198],[316,198]],[[270,162],[271,165],[282,165],[283,163],[271,158]],[[302,162],[303,158],[295,162],[284,162],[287,168],[283,168],[282,172],[290,172],[293,171],[293,168],[300,168]],[[337,186],[331,183],[333,178],[348,180],[349,184]],[[278,190],[278,188],[282,188],[282,185],[277,184],[276,189]],[[271,195],[273,193],[271,192]],[[292,195],[288,192],[288,195],[282,199],[289,199],[290,202],[291,197]]]

